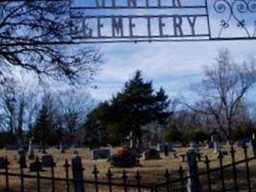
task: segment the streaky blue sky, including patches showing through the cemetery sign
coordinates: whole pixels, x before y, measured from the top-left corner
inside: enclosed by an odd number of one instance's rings
[[[125,0],[116,1],[123,3]],[[138,0],[140,3],[142,1]],[[153,3],[154,1],[156,0],[150,0]],[[89,1],[78,0],[78,5],[81,6],[81,3],[84,2]],[[107,0],[106,2],[111,1]],[[166,2],[166,0],[163,0],[163,2]],[[190,2],[192,5],[204,3],[202,0],[181,0],[181,2],[185,2],[185,4]],[[213,3],[214,1],[210,2]],[[91,5],[93,6],[93,4]],[[224,13],[216,13],[212,9],[213,5],[211,4],[210,6],[212,36],[217,37],[221,19],[227,20],[230,12],[226,10]],[[248,33],[250,36],[254,36],[256,13],[248,11],[237,13],[237,8],[239,7],[236,6],[239,5],[234,6],[236,8],[236,16],[244,20]],[[102,12],[98,11],[94,12],[94,14],[102,14]],[[153,13],[147,10],[132,11],[133,14],[140,15],[145,12],[147,14]],[[174,11],[165,11],[165,13],[169,14],[171,12]],[[174,13],[181,12],[188,13],[189,11],[176,10]],[[115,13],[116,11],[104,11],[104,14],[109,15]],[[120,14],[120,12],[116,14]],[[126,14],[129,14],[129,12]],[[221,36],[246,36],[245,30],[237,26],[234,18],[233,20],[231,19],[229,24],[229,28],[223,30]],[[104,25],[107,24],[104,23]],[[138,27],[139,25],[140,27]],[[137,30],[141,30],[141,25],[143,24],[137,23]],[[195,28],[197,31],[205,30],[206,23],[199,22]],[[156,31],[158,30],[156,29]],[[145,80],[153,81],[155,88],[164,87],[170,97],[183,95],[186,99],[192,101],[194,95],[190,90],[190,85],[199,83],[203,76],[203,65],[215,63],[219,49],[227,48],[233,59],[238,63],[243,63],[243,60],[247,60],[250,57],[256,57],[256,40],[252,39],[200,42],[102,43],[98,44],[97,48],[100,49],[103,59],[100,70],[94,77],[93,85],[97,88],[90,88],[90,93],[98,101],[108,100],[117,91],[120,91],[124,83],[133,77],[136,70],[141,70]],[[256,91],[252,90],[248,97],[253,100],[253,94],[255,93]]]

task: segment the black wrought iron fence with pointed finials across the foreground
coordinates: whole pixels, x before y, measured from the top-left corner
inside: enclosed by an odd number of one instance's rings
[[[92,178],[75,180],[70,176],[71,165],[65,160],[63,165],[63,176],[62,178],[56,177],[56,169],[54,164],[49,167],[49,175],[45,176],[41,170],[36,170],[35,174],[26,174],[27,168],[19,160],[19,168],[16,168],[16,172],[11,172],[11,165],[9,160],[5,158],[5,167],[0,167],[0,186],[3,187],[1,191],[13,192],[13,191],[66,191],[66,192],[114,192],[114,191],[138,191],[138,192],[172,192],[181,191],[185,192],[188,190],[187,186],[190,180],[198,178],[201,191],[256,191],[256,161],[253,165],[253,161],[256,156],[248,156],[248,149],[243,146],[243,158],[236,160],[236,151],[231,147],[228,153],[230,158],[229,164],[223,163],[224,156],[220,153],[218,155],[218,167],[211,167],[211,161],[208,156],[204,156],[204,159],[200,159],[200,166],[196,175],[187,175],[187,171],[184,167],[176,171],[176,173],[166,169],[163,178],[165,180],[155,180],[153,182],[143,183],[142,178],[144,177],[140,171],[137,171],[133,176],[129,175],[127,171],[123,170],[121,175],[116,177],[115,173],[109,169],[105,174],[104,179],[99,177],[99,170],[96,166],[93,167]],[[37,157],[36,163],[39,163]],[[18,180],[17,186],[11,184],[12,180]],[[34,180],[34,186],[28,188],[26,186],[27,180]],[[79,181],[83,183],[84,189],[77,191],[74,187],[74,183]],[[4,182],[4,183],[3,183]]]

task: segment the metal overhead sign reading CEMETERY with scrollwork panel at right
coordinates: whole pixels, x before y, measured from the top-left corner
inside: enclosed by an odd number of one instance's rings
[[[74,42],[256,39],[256,0],[83,0]]]

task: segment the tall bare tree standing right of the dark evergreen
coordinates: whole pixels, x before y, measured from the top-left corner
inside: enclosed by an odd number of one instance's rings
[[[215,129],[227,139],[241,119],[246,93],[256,83],[254,64],[251,60],[239,65],[227,50],[220,50],[217,62],[205,67],[202,82],[192,86],[200,99],[194,107],[187,106],[210,116],[217,123]]]

